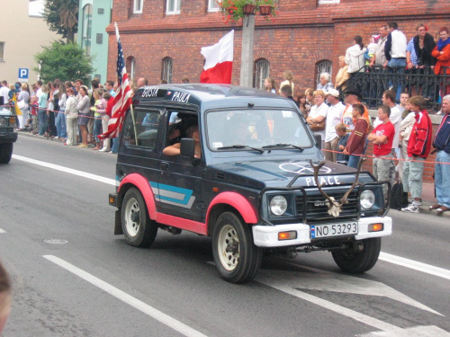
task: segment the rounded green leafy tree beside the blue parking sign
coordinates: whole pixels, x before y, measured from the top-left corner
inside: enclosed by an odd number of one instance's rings
[[[85,55],[85,50],[76,43],[64,43],[53,41],[49,47],[42,47],[40,53],[34,55],[34,59],[41,68],[34,67],[33,70],[40,72],[43,82],[53,81],[59,78],[61,81],[82,79],[85,83],[89,81],[94,73],[92,58]]]

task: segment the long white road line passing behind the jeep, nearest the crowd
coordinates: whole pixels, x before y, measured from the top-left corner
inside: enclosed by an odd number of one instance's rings
[[[17,160],[22,160],[23,162],[27,162],[27,163],[31,163],[31,164],[38,164],[38,165],[44,166],[44,167],[49,167],[51,169],[58,170],[58,171],[61,171],[61,172],[75,174],[75,175],[78,175],[80,177],[92,179],[92,180],[97,181],[97,182],[105,182],[105,183],[108,183],[108,184],[114,185],[114,186],[117,184],[116,181],[114,181],[112,179],[104,178],[104,177],[102,177],[100,175],[95,175],[95,174],[91,174],[91,173],[85,173],[83,171],[73,170],[73,169],[70,169],[68,167],[59,166],[59,165],[56,165],[56,164],[49,164],[49,163],[46,163],[46,162],[41,162],[39,160],[35,160],[35,159],[24,157],[22,155],[13,155],[13,158],[17,159]],[[400,256],[392,255],[392,254],[389,254],[389,253],[383,253],[383,252],[380,253],[380,260],[382,260],[384,262],[391,262],[391,263],[394,263],[394,264],[398,264],[398,265],[401,265],[403,267],[410,268],[412,270],[419,270],[419,271],[428,273],[430,275],[435,275],[435,276],[440,277],[440,278],[450,279],[450,270],[445,270],[445,269],[442,269],[442,268],[438,268],[438,267],[435,267],[435,266],[432,266],[432,265],[429,265],[429,264],[426,264],[426,263],[417,262],[417,261],[410,260],[410,259],[405,259],[405,258],[402,258]]]

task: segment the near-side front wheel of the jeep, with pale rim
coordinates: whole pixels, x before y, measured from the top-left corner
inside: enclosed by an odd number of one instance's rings
[[[257,275],[263,250],[253,244],[250,227],[234,213],[225,212],[214,226],[212,254],[222,279],[243,283]]]

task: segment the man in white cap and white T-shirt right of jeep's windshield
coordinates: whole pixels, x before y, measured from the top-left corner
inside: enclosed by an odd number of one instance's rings
[[[335,162],[338,156],[339,137],[336,133],[336,126],[341,122],[342,112],[345,109],[344,104],[339,101],[339,92],[336,89],[329,89],[327,100],[330,104],[325,122],[325,160]]]

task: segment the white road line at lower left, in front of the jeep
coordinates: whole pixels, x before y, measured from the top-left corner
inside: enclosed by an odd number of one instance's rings
[[[159,310],[155,309],[153,306],[148,306],[146,303],[140,301],[136,297],[132,297],[129,294],[123,292],[119,288],[113,287],[111,284],[106,283],[102,279],[96,278],[94,275],[89,274],[85,270],[81,270],[78,267],[74,266],[73,264],[66,262],[57,256],[54,255],[43,255],[43,257],[50,262],[53,262],[57,264],[59,267],[64,268],[65,270],[70,271],[71,273],[75,274],[81,279],[85,279],[85,281],[93,284],[95,287],[101,288],[103,291],[106,291],[108,294],[112,295],[113,297],[116,297],[120,299],[121,301],[125,302],[126,304],[133,306],[134,308],[138,309],[142,313],[149,315],[150,317],[155,318],[157,321],[161,322],[162,324],[166,324],[168,327],[174,329],[178,333],[184,334],[184,336],[189,337],[206,337],[206,335],[194,330],[190,326],[183,324],[175,318],[166,315]]]

